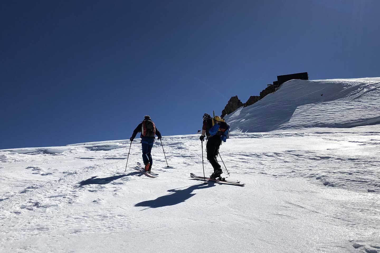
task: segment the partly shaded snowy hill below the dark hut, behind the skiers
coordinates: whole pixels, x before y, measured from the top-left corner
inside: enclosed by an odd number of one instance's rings
[[[323,95],[323,96],[321,96]],[[236,132],[380,124],[380,78],[291,80],[226,116]]]

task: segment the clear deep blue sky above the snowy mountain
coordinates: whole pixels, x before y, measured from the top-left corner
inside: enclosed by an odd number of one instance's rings
[[[192,134],[276,75],[380,76],[378,0],[2,1],[0,149]]]

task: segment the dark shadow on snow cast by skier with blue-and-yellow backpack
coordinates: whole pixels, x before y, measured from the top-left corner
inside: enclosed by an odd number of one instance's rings
[[[188,200],[189,198],[194,196],[196,193],[193,193],[193,190],[205,189],[213,186],[215,186],[215,184],[194,184],[182,190],[179,190],[180,188],[168,190],[168,192],[170,193],[167,195],[158,197],[155,200],[142,201],[140,203],[135,204],[135,206],[146,206],[148,208],[174,206],[176,204],[185,202],[185,200]]]

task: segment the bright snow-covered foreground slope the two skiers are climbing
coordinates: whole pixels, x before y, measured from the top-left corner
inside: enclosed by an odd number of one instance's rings
[[[155,143],[158,178],[139,140],[125,172],[129,140],[0,150],[0,252],[380,252],[378,126],[232,134],[244,187],[191,179],[199,142]]]

